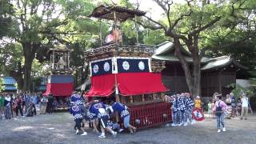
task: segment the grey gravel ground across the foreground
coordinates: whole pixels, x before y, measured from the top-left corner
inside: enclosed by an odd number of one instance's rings
[[[118,134],[112,138],[98,138],[90,128],[86,136],[76,135],[74,121],[68,113],[36,115],[32,118],[15,118],[0,121],[0,143],[24,144],[76,144],[76,143],[256,143],[256,116],[248,120],[226,119],[226,132],[217,133],[216,120],[206,118],[193,126],[157,126],[138,130],[136,134]]]

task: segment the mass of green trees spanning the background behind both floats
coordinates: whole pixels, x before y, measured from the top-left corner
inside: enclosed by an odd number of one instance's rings
[[[255,10],[254,0],[152,0],[159,7],[159,19],[149,16],[139,18],[138,41],[156,45],[166,40],[175,44],[177,56],[186,72],[190,92],[199,94],[200,61],[204,56],[216,57],[233,55],[255,70]],[[111,1],[104,1],[112,5]],[[55,43],[62,43],[70,49],[71,67],[82,76],[88,75],[82,52],[87,48],[100,46],[112,26],[111,22],[99,22],[88,18],[101,1],[89,0],[17,0],[1,1],[0,9],[0,70],[4,75],[13,76],[18,89],[31,90],[33,77],[46,74],[49,56],[46,52]],[[126,0],[120,6],[139,9],[139,3]],[[162,9],[162,13],[160,12]],[[101,23],[101,24],[100,24]],[[123,44],[134,45],[136,33],[133,20],[121,25]],[[190,51],[193,70],[180,53],[181,47]],[[79,78],[78,78],[79,79]]]

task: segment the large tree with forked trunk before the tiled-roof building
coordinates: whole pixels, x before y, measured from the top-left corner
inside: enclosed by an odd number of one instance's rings
[[[254,14],[255,2],[251,0],[186,0],[185,4],[174,3],[171,0],[154,0],[164,11],[165,19],[155,21],[145,16],[142,26],[151,30],[164,30],[165,35],[174,42],[175,53],[185,72],[186,83],[193,96],[200,95],[201,59],[205,55],[206,34],[226,27],[243,29],[249,17],[244,14]],[[249,29],[248,29],[249,30]],[[245,30],[246,31],[246,30]],[[230,34],[234,32],[230,32]],[[229,35],[229,32],[225,34]],[[234,42],[244,41],[244,38],[234,39]],[[190,51],[193,58],[192,68],[182,55],[182,47]]]

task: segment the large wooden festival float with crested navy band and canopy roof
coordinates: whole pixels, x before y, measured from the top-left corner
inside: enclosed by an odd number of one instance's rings
[[[154,46],[122,45],[122,33],[118,23],[146,13],[121,6],[98,6],[90,18],[114,21],[114,41],[85,51],[90,64],[91,88],[88,98],[112,99],[129,107],[130,122],[138,128],[157,126],[171,121],[170,103],[164,102],[167,91],[162,84],[161,70],[165,63],[152,60]],[[100,34],[102,40],[102,36]]]

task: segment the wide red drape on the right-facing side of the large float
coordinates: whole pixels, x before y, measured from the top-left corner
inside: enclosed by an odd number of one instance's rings
[[[150,94],[165,92],[161,74],[154,73],[119,73],[118,90],[122,95]]]

